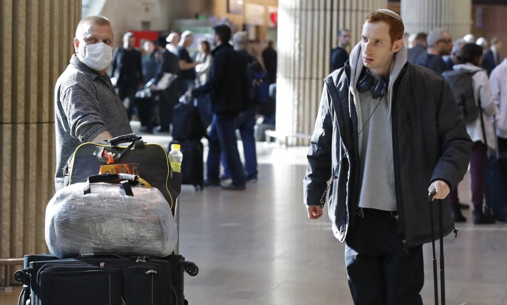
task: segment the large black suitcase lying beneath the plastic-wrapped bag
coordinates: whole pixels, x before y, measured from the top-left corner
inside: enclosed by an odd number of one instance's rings
[[[184,271],[195,276],[198,268],[181,255],[58,259],[44,254],[25,255],[24,269],[14,277],[23,283],[18,305],[184,305]]]

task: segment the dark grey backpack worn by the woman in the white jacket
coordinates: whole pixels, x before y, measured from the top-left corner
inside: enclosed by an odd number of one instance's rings
[[[479,106],[474,97],[472,76],[475,72],[468,70],[444,71],[442,76],[451,86],[454,98],[461,109],[461,115],[465,123],[473,122],[479,117]]]

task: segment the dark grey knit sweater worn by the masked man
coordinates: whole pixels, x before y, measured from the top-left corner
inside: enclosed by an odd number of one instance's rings
[[[132,133],[125,107],[108,75],[96,74],[74,54],[55,87],[56,190],[74,150],[105,130],[113,137]]]

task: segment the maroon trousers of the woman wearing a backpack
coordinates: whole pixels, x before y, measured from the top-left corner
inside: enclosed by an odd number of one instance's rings
[[[486,145],[480,141],[474,142],[470,156],[470,186],[472,188],[472,204],[476,211],[481,211],[484,203],[484,174],[487,159]],[[449,203],[452,208],[456,208],[458,202],[458,188],[455,187],[449,194]]]

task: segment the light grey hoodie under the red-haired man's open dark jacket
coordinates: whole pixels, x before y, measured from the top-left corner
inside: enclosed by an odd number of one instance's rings
[[[397,210],[392,151],[391,97],[394,81],[406,62],[407,49],[403,46],[391,63],[387,94],[382,99],[373,99],[371,91],[359,93],[355,87],[364,67],[360,43],[354,47],[350,55],[352,80],[350,93],[354,96],[359,131],[361,190],[358,206],[361,208]]]

